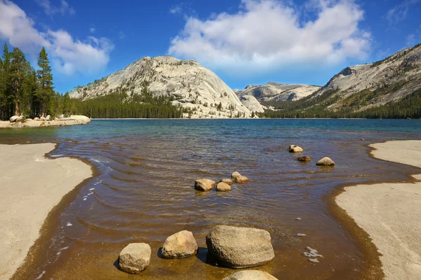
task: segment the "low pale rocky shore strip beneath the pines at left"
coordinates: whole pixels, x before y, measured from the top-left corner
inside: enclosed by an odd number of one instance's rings
[[[86,116],[72,115],[69,118],[22,118],[13,116],[10,120],[0,121],[0,128],[22,128],[22,127],[61,127],[68,125],[86,125],[91,119]]]

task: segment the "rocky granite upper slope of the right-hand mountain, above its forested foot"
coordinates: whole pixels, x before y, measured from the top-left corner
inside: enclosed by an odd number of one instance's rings
[[[363,111],[421,88],[421,44],[378,62],[349,66],[314,94],[329,110]],[[420,105],[421,106],[421,105]]]

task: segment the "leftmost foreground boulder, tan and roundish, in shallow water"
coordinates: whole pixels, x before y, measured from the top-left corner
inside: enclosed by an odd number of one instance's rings
[[[121,250],[119,268],[123,272],[139,274],[149,265],[151,246],[146,243],[131,243]]]

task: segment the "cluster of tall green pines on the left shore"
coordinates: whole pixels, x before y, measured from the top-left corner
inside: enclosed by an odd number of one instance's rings
[[[0,119],[54,117],[71,113],[69,106],[69,94],[62,97],[54,91],[45,48],[39,52],[38,69],[35,70],[19,48],[9,52],[4,43],[0,58]]]

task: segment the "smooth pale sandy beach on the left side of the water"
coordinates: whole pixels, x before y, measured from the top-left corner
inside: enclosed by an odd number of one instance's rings
[[[73,158],[45,158],[55,144],[0,145],[0,279],[22,264],[48,213],[92,176]]]

